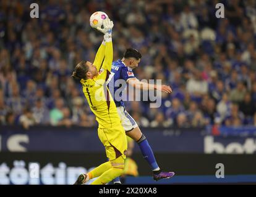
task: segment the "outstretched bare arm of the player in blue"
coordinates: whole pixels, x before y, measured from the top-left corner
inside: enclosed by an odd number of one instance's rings
[[[166,92],[166,93],[173,92],[170,86],[148,84],[147,82],[142,82],[137,78],[130,78],[127,80],[127,83],[135,87],[136,89],[140,89],[140,90],[160,90],[161,92]]]

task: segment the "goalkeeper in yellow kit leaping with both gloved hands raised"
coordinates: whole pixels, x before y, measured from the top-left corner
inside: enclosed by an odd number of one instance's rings
[[[103,29],[97,28],[105,35],[95,61],[93,63],[82,61],[77,64],[72,77],[79,79],[82,84],[83,93],[98,121],[98,137],[105,146],[109,161],[87,174],[80,174],[75,185],[81,185],[95,177],[98,179],[94,180],[92,185],[104,185],[124,172],[124,159],[127,152],[126,134],[116,105],[106,87],[113,61],[111,33],[114,25],[109,18],[106,18],[103,26]]]

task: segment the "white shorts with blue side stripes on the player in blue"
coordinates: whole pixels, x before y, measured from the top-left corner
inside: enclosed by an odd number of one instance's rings
[[[121,119],[121,124],[122,127],[124,127],[124,131],[132,131],[132,129],[138,126],[132,116],[130,116],[129,113],[126,111],[126,108],[122,106],[117,107],[117,113],[119,114],[119,117]]]

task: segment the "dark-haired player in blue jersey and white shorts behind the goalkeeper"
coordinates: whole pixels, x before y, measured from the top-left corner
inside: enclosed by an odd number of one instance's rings
[[[139,81],[139,79],[137,79],[134,76],[134,72],[132,70],[139,65],[141,57],[142,55],[138,50],[127,49],[126,52],[124,52],[124,57],[122,58],[122,60],[117,60],[112,63],[112,68],[111,68],[112,76],[109,77],[110,78],[109,90],[114,98],[114,102],[116,103],[117,112],[119,113],[119,116],[121,118],[121,124],[124,127],[124,130],[126,131],[126,135],[128,135],[138,143],[140,150],[142,151],[143,157],[147,160],[148,164],[150,164],[151,166],[151,169],[153,171],[153,179],[154,180],[169,179],[170,177],[173,177],[174,172],[161,171],[160,167],[156,163],[155,156],[153,154],[153,151],[151,150],[150,145],[148,144],[148,141],[145,135],[142,134],[135,120],[126,111],[124,102],[121,100],[122,93],[120,90],[118,90],[119,87],[114,86],[117,80],[123,79],[124,81],[126,81],[127,84],[132,85],[136,89],[143,89],[143,90],[156,89],[166,93],[172,92],[170,86],[166,86],[166,85],[157,86],[155,84],[148,84],[146,82]],[[116,97],[116,95],[119,95],[119,97]],[[113,181],[114,183],[120,183],[119,177],[117,177]]]

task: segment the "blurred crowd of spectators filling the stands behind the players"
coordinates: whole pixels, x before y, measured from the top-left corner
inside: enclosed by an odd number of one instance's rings
[[[38,2],[39,18],[30,18]],[[215,5],[224,4],[224,18]],[[93,62],[103,36],[89,24],[114,22],[114,60],[133,47],[138,79],[161,79],[172,94],[160,108],[127,102],[139,126],[256,126],[256,1],[108,0],[0,2],[0,124],[96,125],[70,75]]]

